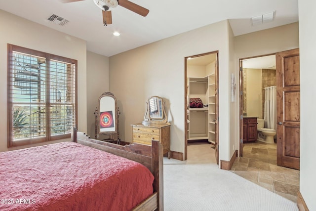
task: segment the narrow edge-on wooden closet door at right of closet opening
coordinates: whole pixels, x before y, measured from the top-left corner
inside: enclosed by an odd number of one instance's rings
[[[216,53],[216,61],[215,61],[215,159],[218,165],[218,53]]]

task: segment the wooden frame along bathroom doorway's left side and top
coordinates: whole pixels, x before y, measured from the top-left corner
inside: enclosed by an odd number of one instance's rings
[[[250,57],[245,57],[245,58],[240,58],[238,61],[238,70],[239,70],[239,157],[242,157],[243,155],[243,71],[242,71],[242,60],[245,59],[253,59],[253,58],[258,58],[258,57],[264,57],[264,56],[271,56],[271,55],[276,55],[276,53],[270,53],[270,54],[263,54],[263,55],[258,55],[258,56],[250,56]]]

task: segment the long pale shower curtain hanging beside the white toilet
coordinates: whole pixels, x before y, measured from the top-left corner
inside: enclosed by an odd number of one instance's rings
[[[276,129],[276,86],[265,88],[265,128]]]

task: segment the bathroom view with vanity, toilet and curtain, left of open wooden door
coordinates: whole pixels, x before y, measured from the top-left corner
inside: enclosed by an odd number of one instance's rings
[[[243,140],[240,156],[243,156],[243,144],[258,140],[259,143],[276,145],[276,55],[241,59],[240,90],[240,133]],[[270,128],[268,136],[264,128]]]

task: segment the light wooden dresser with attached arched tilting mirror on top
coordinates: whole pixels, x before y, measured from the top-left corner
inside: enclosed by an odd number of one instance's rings
[[[170,159],[170,123],[164,110],[164,101],[159,96],[151,96],[142,123],[132,124],[133,143],[151,145],[152,139],[159,140],[163,154]]]

